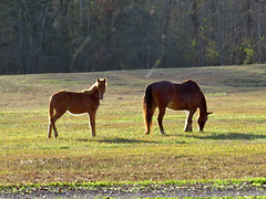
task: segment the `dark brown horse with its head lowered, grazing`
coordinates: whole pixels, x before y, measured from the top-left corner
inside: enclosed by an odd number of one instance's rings
[[[150,134],[153,114],[158,107],[157,123],[160,132],[164,135],[163,116],[166,107],[175,111],[186,111],[187,118],[185,132],[192,132],[192,117],[200,108],[198,128],[203,130],[207,122],[206,100],[198,85],[187,80],[182,84],[175,84],[167,81],[160,81],[146,86],[143,100],[143,116],[145,123],[145,134]]]

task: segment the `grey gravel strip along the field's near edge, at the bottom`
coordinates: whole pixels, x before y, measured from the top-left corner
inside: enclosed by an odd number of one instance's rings
[[[257,197],[266,198],[266,185],[124,185],[112,187],[41,186],[6,188],[0,198],[155,198],[155,197]]]

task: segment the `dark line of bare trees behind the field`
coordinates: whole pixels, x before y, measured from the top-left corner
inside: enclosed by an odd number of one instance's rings
[[[0,74],[266,62],[264,0],[2,0]]]

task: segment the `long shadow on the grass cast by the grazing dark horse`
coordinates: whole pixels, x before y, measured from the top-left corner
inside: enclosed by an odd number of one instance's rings
[[[239,133],[228,133],[228,134],[212,134],[212,135],[186,135],[186,137],[193,137],[197,139],[215,139],[215,140],[255,140],[255,139],[265,139],[265,135],[255,135],[255,134],[239,134]]]

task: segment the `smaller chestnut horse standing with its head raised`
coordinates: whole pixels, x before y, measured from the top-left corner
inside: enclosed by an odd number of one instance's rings
[[[96,109],[100,106],[100,100],[103,100],[105,93],[106,78],[98,78],[89,90],[83,90],[81,93],[60,91],[53,94],[49,102],[49,126],[48,138],[51,137],[53,128],[54,137],[58,137],[55,122],[68,111],[71,114],[88,113],[91,124],[91,136],[96,136],[95,133],[95,116]],[[55,111],[55,114],[53,113]]]

